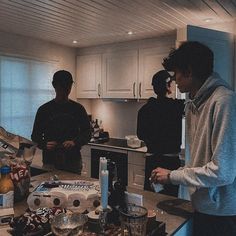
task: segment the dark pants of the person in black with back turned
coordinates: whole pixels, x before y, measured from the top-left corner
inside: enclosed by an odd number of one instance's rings
[[[146,157],[144,190],[152,192],[154,191],[153,188],[151,187],[149,178],[151,176],[152,171],[157,167],[169,170],[176,170],[180,167],[179,156],[167,157],[160,154],[153,154],[152,156]],[[178,189],[179,189],[178,185],[165,184],[164,189],[161,190],[159,193],[178,197]]]

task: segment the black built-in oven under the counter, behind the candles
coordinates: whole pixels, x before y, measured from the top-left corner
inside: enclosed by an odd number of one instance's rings
[[[99,178],[100,157],[106,157],[111,162],[115,162],[117,169],[117,179],[125,186],[128,185],[128,156],[127,153],[114,152],[91,148],[91,177]]]

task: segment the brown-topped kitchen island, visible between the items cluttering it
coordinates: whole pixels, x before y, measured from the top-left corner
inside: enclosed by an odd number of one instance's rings
[[[60,180],[73,180],[88,178],[65,171],[49,171],[31,178],[32,188],[36,187],[43,181],[50,180],[52,176],[57,175]],[[143,203],[147,209],[155,210],[157,220],[166,224],[167,235],[191,235],[192,207],[189,201],[175,197],[138,190],[132,187],[127,188],[130,193],[143,195]],[[27,208],[26,200],[18,202],[14,206],[15,216],[25,212]],[[9,235],[6,229],[0,229],[0,235]]]

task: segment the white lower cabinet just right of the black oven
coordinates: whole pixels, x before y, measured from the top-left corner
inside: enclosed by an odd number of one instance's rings
[[[128,186],[142,189],[145,179],[145,153],[128,152]]]

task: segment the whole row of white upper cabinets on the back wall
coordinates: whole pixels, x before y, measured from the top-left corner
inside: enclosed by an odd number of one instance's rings
[[[77,57],[78,98],[147,99],[176,35],[91,47]]]

